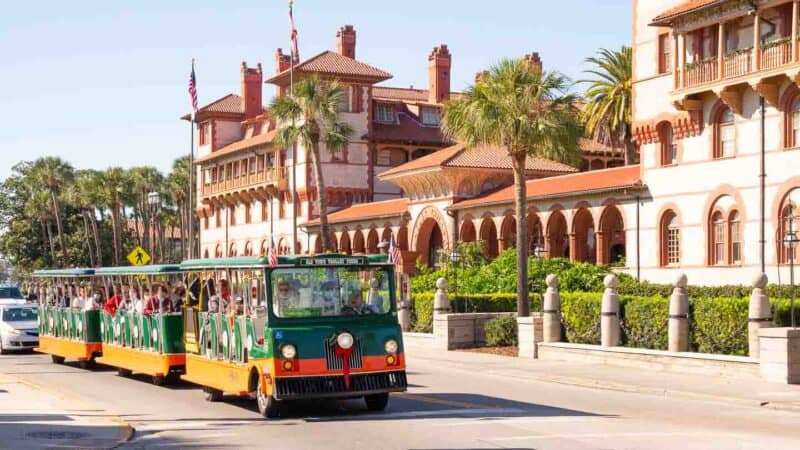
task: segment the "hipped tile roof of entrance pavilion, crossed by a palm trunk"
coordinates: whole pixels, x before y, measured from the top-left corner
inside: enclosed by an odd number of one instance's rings
[[[380,178],[393,177],[401,173],[435,167],[463,167],[470,169],[511,169],[511,158],[505,150],[498,147],[469,148],[455,144],[430,155],[415,159],[380,174]],[[531,172],[569,173],[578,169],[548,159],[528,157],[526,170]]]

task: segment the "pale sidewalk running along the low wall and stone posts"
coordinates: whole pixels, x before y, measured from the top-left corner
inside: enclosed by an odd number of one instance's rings
[[[593,389],[692,398],[800,413],[800,385],[769,383],[760,378],[730,379],[655,372],[605,364],[539,361],[469,351],[431,348],[431,339],[404,334],[406,358],[435,361],[453,371],[520,380],[567,384]]]

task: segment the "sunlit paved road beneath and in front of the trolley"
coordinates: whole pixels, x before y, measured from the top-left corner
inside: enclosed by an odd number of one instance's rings
[[[42,355],[0,357],[0,372],[69,390],[128,421],[136,433],[123,448],[800,448],[797,413],[512,380],[407,350],[412,386],[385,412],[315,402],[276,421],[262,420],[252,402],[207,403],[192,385],[159,388]]]

